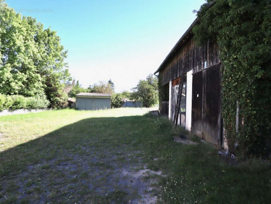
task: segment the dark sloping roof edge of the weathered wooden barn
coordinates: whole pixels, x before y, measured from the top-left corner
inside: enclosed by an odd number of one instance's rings
[[[215,4],[215,1],[211,2],[209,4],[209,8]],[[185,31],[185,33],[181,36],[181,38],[178,40],[178,42],[176,43],[176,45],[174,45],[174,47],[171,49],[171,51],[169,52],[169,54],[166,56],[166,58],[164,59],[164,61],[161,63],[161,65],[159,66],[159,68],[156,70],[156,72],[154,72],[154,74],[156,74],[157,72],[159,72],[163,66],[166,64],[166,62],[169,60],[169,58],[172,56],[172,54],[177,50],[178,47],[180,47],[181,45],[184,44],[184,39],[186,38],[186,36],[188,36],[188,34],[192,31],[193,27],[196,25],[196,23],[199,22],[199,18],[196,18],[193,23],[190,25],[190,27]]]

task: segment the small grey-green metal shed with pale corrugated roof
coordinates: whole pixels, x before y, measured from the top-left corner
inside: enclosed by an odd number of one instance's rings
[[[76,94],[78,110],[101,110],[111,108],[111,94],[79,93]]]

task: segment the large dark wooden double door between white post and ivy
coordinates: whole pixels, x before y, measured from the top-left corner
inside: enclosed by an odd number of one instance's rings
[[[221,65],[193,74],[192,131],[221,145]]]

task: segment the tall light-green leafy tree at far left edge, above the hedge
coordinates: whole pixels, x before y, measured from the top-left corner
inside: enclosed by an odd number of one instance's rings
[[[0,2],[0,92],[44,96],[44,85],[32,56],[35,32],[26,19]]]

